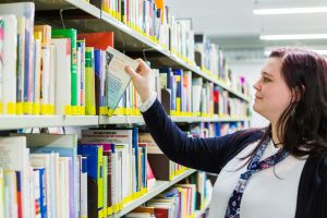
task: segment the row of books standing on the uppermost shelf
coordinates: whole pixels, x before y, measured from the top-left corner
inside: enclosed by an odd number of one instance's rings
[[[97,1],[90,3],[97,5]],[[101,9],[185,62],[201,66],[228,87],[249,96],[247,83],[228,68],[222,50],[210,44],[205,34],[194,34],[191,19],[170,14],[165,0],[107,0],[102,1]]]

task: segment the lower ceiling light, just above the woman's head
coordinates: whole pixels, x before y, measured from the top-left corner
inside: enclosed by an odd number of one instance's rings
[[[327,34],[261,35],[261,40],[326,39]]]

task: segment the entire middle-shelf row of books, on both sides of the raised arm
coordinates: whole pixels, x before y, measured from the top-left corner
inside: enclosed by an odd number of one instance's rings
[[[22,12],[14,11],[15,7]],[[34,3],[1,4],[1,9],[7,8],[15,15],[2,19],[0,113],[111,116],[117,107],[112,101],[118,102],[121,97],[112,93],[119,87],[125,92],[114,114],[140,114],[140,97],[133,84],[122,86],[111,76],[117,69],[108,66],[116,57],[108,49],[113,47],[112,32],[77,34],[73,28],[32,25],[31,33],[31,28],[23,27],[33,23]],[[27,33],[34,38],[31,43]],[[16,49],[22,52],[15,52]],[[33,64],[28,65],[27,59]],[[230,98],[227,90],[211,82],[192,76],[191,71],[154,69],[153,75],[154,89],[171,116],[247,114],[245,102]]]

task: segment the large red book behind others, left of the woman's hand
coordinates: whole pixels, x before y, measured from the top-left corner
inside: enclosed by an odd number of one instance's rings
[[[87,47],[107,50],[108,46],[114,47],[113,32],[77,34],[77,39],[85,39]]]

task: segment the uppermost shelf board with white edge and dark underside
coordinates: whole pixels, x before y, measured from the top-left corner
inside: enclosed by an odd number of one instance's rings
[[[12,1],[11,1],[12,2]],[[45,1],[45,0],[35,0],[36,5],[36,21],[41,19],[47,21],[48,24],[55,26],[62,26],[60,13],[53,10],[63,10],[63,23],[65,26],[76,28],[82,32],[104,32],[112,31],[118,33],[114,47],[118,49],[123,49],[126,52],[135,51],[145,51],[146,58],[152,61],[154,66],[156,65],[166,65],[171,68],[178,68],[183,70],[190,70],[198,76],[206,78],[209,82],[222,87],[234,96],[243,99],[249,102],[249,97],[244,96],[242,93],[233,90],[228,87],[227,84],[215,78],[209,73],[206,73],[201,70],[199,66],[195,64],[190,64],[187,61],[184,61],[182,58],[175,56],[173,52],[164,48],[162,46],[150,40],[148,37],[144,36],[141,33],[137,33],[133,28],[129,27],[124,23],[111,17],[109,14],[102,12],[100,9],[95,5],[83,1],[83,0],[55,0],[55,1]],[[51,10],[49,10],[51,9]],[[77,9],[76,13],[71,13],[65,16],[64,10],[74,10]],[[50,14],[50,15],[49,15]],[[87,15],[85,15],[87,14]],[[74,20],[70,20],[73,19]],[[76,19],[77,17],[77,19]],[[158,55],[159,53],[159,55]],[[135,55],[134,55],[135,56]],[[142,52],[136,52],[137,57],[143,57]],[[148,57],[147,57],[148,56]]]

